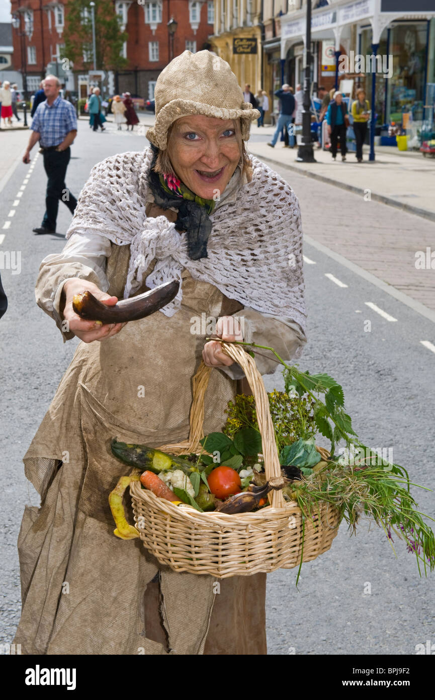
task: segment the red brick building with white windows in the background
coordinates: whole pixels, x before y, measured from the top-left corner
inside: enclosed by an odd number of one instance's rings
[[[98,0],[95,2],[98,6]],[[97,66],[106,71],[103,90],[108,94],[129,90],[152,99],[155,81],[173,56],[186,49],[196,52],[210,48],[213,0],[114,0],[113,6],[128,34],[122,48],[128,64],[122,71]],[[28,94],[37,89],[48,72],[58,75],[66,89],[79,96],[85,95],[93,84],[88,75],[93,67],[89,52],[85,52],[83,62],[76,61],[69,70],[65,69],[63,59],[67,57],[62,36],[66,12],[62,0],[11,0],[17,25],[13,29],[13,67],[22,73]],[[168,29],[171,19],[177,23],[172,37]]]

